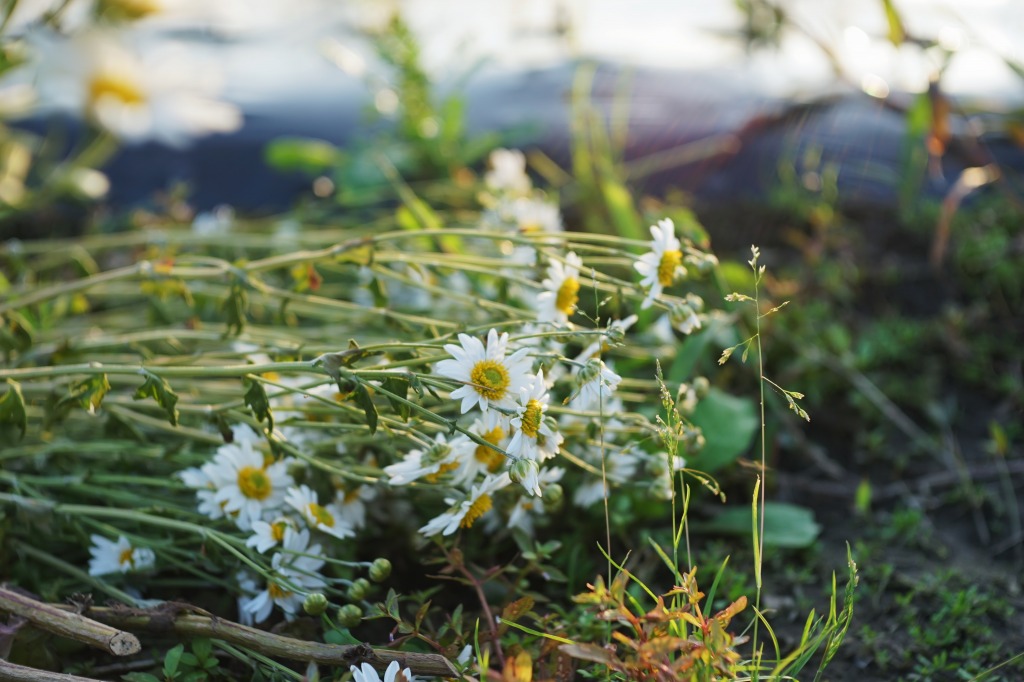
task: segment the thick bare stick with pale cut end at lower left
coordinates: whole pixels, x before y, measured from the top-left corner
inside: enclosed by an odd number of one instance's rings
[[[116,656],[138,653],[138,638],[73,611],[45,604],[0,587],[0,610],[9,611],[55,635],[83,642]]]

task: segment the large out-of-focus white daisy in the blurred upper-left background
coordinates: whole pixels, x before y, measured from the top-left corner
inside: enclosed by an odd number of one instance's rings
[[[214,98],[209,65],[189,65],[180,50],[140,54],[123,34],[98,29],[40,35],[33,46],[41,104],[81,113],[122,140],[182,146],[242,125],[236,106]]]

